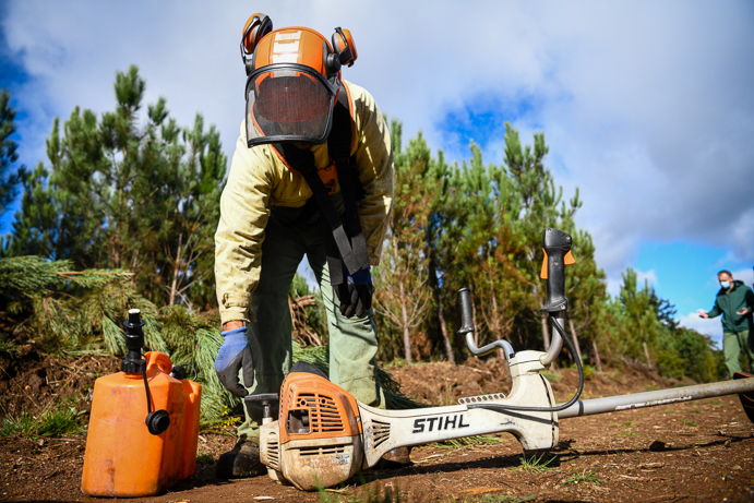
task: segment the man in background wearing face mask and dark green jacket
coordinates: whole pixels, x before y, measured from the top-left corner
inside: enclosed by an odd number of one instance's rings
[[[722,314],[722,354],[730,378],[741,372],[739,361],[743,350],[749,357],[749,364],[754,361],[754,340],[752,340],[752,311],[754,311],[754,291],[743,282],[733,279],[730,271],[717,274],[720,291],[715,298],[715,307],[709,312],[699,311],[701,318],[716,318]]]

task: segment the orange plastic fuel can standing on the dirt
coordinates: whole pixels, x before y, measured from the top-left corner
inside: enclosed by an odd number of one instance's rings
[[[141,372],[97,379],[81,483],[86,494],[155,495],[194,472],[202,387],[170,376],[172,362],[167,355],[153,351],[144,357],[155,411],[148,416],[158,417],[147,427],[147,392]]]

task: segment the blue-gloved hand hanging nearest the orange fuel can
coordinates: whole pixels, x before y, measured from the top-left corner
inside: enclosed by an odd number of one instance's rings
[[[238,381],[238,372],[243,369],[243,384],[254,384],[254,361],[247,342],[247,327],[223,332],[223,346],[215,359],[215,372],[220,383],[234,395],[244,397],[249,392]]]

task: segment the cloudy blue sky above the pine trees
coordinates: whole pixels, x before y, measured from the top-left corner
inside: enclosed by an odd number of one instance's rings
[[[633,267],[678,318],[701,320],[730,270],[754,283],[754,2],[380,2],[165,0],[0,2],[0,87],[12,92],[21,161],[46,159],[52,120],[74,107],[113,109],[117,71],[136,64],[145,104],[159,96],[179,124],[201,112],[230,158],[243,118],[239,41],[264,12],[275,27],[358,49],[344,79],[382,111],[463,161],[469,142],[502,164],[505,122],[532,143],[596,243],[608,289]],[[11,229],[12,212],[0,220]]]

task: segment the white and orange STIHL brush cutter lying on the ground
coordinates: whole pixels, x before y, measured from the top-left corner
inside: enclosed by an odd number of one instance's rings
[[[578,390],[569,402],[556,404],[540,371],[555,360],[563,342],[576,354],[563,331],[567,309],[564,273],[565,265],[573,263],[571,244],[567,233],[544,229],[542,277],[547,279],[547,302],[541,309],[550,314],[553,328],[547,352],[515,352],[505,340],[478,348],[472,337],[470,292],[458,292],[463,323],[458,334],[466,337],[469,350],[477,356],[502,349],[513,380],[507,396],[495,393],[460,398],[458,405],[450,407],[382,410],[359,403],[316,368],[299,362],[283,382],[276,421],[270,410],[271,402],[278,399],[278,395],[246,398],[264,405],[260,451],[270,476],[304,491],[330,488],[375,466],[396,447],[501,432],[512,433],[527,453],[541,452],[558,445],[559,421],[564,418],[730,394],[741,396],[746,415],[754,421],[754,379],[579,402],[584,372],[578,359]]]

